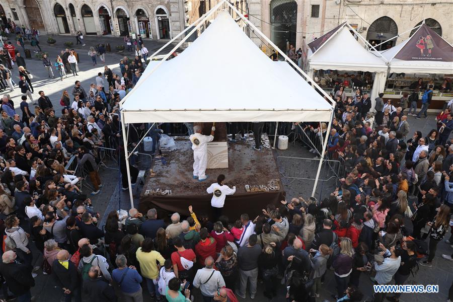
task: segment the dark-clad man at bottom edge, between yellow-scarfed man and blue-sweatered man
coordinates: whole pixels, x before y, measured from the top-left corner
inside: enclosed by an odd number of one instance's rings
[[[90,301],[98,302],[116,302],[117,297],[113,287],[100,276],[101,269],[99,266],[92,266],[88,275],[90,278],[84,282],[84,291],[88,294]]]

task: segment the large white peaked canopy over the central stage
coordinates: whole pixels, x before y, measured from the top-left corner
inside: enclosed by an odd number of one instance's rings
[[[332,105],[288,63],[270,60],[226,11],[181,54],[153,69],[148,66],[124,98],[125,123],[331,118]]]

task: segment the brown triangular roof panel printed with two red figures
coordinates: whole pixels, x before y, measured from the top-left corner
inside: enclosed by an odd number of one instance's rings
[[[453,47],[430,29],[426,24],[409,38],[409,41],[395,55],[405,61],[453,61]]]

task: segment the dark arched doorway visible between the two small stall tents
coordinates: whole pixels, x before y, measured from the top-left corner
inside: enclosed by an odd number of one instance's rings
[[[384,16],[374,20],[366,33],[366,40],[371,45],[378,45],[398,35],[398,26],[392,18]],[[396,39],[387,41],[380,45],[378,50],[385,50],[395,46]]]

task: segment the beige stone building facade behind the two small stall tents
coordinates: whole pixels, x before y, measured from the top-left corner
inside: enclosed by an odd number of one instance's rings
[[[260,9],[255,7],[257,5],[249,6],[250,20],[284,49],[287,44],[299,47],[303,39],[311,42],[345,21],[373,45],[399,35],[379,46],[380,49],[406,40],[411,29],[423,20],[444,39],[453,41],[453,3],[450,1],[262,0]]]

